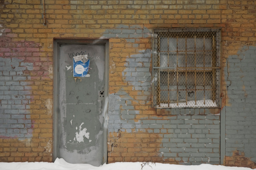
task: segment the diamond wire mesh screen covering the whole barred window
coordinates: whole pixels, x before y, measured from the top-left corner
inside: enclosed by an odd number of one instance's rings
[[[153,107],[220,107],[220,30],[155,29]]]

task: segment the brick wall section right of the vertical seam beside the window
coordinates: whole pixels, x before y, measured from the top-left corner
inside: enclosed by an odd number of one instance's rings
[[[255,168],[255,2],[228,1],[222,11],[226,80],[226,165]]]

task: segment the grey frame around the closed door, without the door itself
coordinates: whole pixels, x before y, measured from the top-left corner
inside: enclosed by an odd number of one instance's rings
[[[59,47],[60,44],[105,44],[105,87],[104,91],[104,121],[103,121],[103,158],[102,164],[107,163],[107,139],[108,139],[108,80],[109,80],[109,43],[108,39],[53,39],[53,159],[59,157],[58,144],[58,115],[59,111]]]

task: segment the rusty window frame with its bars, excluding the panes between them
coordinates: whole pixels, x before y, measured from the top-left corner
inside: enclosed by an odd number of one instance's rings
[[[164,33],[164,34],[163,34]],[[179,34],[179,33],[183,33],[183,37],[180,36],[176,36],[175,34]],[[199,73],[202,73],[204,72],[204,75],[205,75],[205,72],[207,71],[211,71],[212,72],[212,86],[215,86],[215,89],[212,88],[210,89],[210,93],[213,93],[213,99],[212,101],[216,101],[216,105],[214,106],[208,106],[208,105],[205,105],[205,96],[204,96],[204,105],[205,106],[196,106],[196,105],[193,105],[193,106],[189,106],[188,105],[188,99],[187,99],[187,91],[191,91],[191,89],[187,89],[186,87],[186,106],[180,106],[179,105],[179,97],[178,97],[178,80],[177,80],[177,106],[170,106],[171,105],[171,101],[172,100],[169,100],[169,83],[172,82],[172,81],[169,81],[169,73],[172,72],[171,69],[167,67],[165,67],[165,70],[168,72],[168,89],[165,90],[165,91],[168,91],[168,105],[165,106],[165,105],[162,105],[162,99],[160,98],[161,97],[161,89],[160,89],[160,81],[161,81],[161,77],[160,77],[160,72],[163,73],[164,70],[163,68],[160,66],[160,58],[162,57],[160,52],[160,38],[167,38],[167,39],[170,39],[170,38],[177,38],[177,53],[178,53],[178,39],[181,40],[181,38],[184,38],[185,35],[188,35],[188,37],[186,36],[186,39],[185,39],[185,43],[186,43],[186,47],[187,47],[187,38],[189,38],[190,35],[198,35],[198,36],[195,36],[195,41],[196,41],[196,38],[202,38],[203,36],[202,35],[205,35],[206,33],[209,33],[209,37],[210,36],[213,36],[212,39],[214,39],[214,36],[215,36],[215,40],[212,41],[212,52],[213,51],[216,51],[215,54],[211,54],[211,62],[215,62],[216,66],[211,66],[211,67],[206,67],[205,66],[205,53],[204,53],[204,66],[201,68],[203,69],[203,71],[200,69],[198,70],[199,67],[196,67],[196,64],[194,66],[194,71],[190,71],[191,73],[195,73],[196,72],[199,72]],[[164,35],[164,36],[163,36]],[[200,36],[201,35],[201,36]],[[206,34],[207,35],[207,34]],[[176,37],[175,37],[176,36]],[[208,36],[208,35],[207,35]],[[208,38],[209,38],[208,37]],[[205,38],[205,36],[204,36]],[[210,37],[211,38],[211,37]],[[157,43],[156,43],[157,42]],[[184,44],[185,45],[185,44]],[[169,63],[169,40],[168,40],[168,50],[167,50],[167,53],[168,53],[168,61],[167,63]],[[199,50],[198,50],[199,51]],[[198,52],[196,50],[196,47],[195,47],[195,56],[196,56],[196,52]],[[186,66],[185,67],[179,67],[179,66],[176,66],[176,72],[177,72],[177,79],[178,79],[178,72],[182,72],[182,69],[183,69],[183,72],[186,73],[186,80],[187,80],[187,73],[188,73],[188,69],[189,67],[187,66],[187,49],[185,50],[185,53],[186,53]],[[159,61],[156,62],[154,60],[154,58],[158,56],[158,59]],[[183,56],[184,57],[184,56]],[[196,58],[196,57],[195,57]],[[184,59],[184,58],[183,58]],[[177,54],[177,63],[178,63],[178,54]],[[176,63],[176,64],[177,64]],[[195,63],[196,63],[196,59],[195,59]],[[156,66],[157,64],[157,66]],[[169,64],[168,64],[169,65]],[[220,94],[221,94],[221,29],[220,28],[156,28],[156,29],[153,29],[153,36],[152,36],[152,107],[154,108],[220,108],[221,107],[221,98],[220,98]],[[162,69],[162,71],[160,71],[160,69]],[[180,70],[181,69],[181,70]],[[209,70],[209,69],[212,69],[212,70]],[[155,79],[155,74],[156,74],[156,70],[158,72],[158,80],[159,81],[154,81]],[[217,72],[218,73],[217,73]],[[174,71],[173,71],[174,72]],[[216,75],[218,74],[218,75]],[[196,79],[196,75],[195,75],[195,80],[198,80]],[[204,78],[205,80],[205,78]],[[155,89],[155,84],[154,83],[158,83],[158,86],[159,86],[159,89],[156,90]],[[186,82],[187,83],[187,82]],[[187,86],[187,85],[186,85]],[[195,83],[195,86],[196,86],[196,83]],[[204,85],[205,86],[205,83]],[[195,93],[196,93],[196,87],[195,87]],[[162,90],[163,91],[163,90]],[[174,90],[175,91],[175,90]],[[205,93],[205,89],[204,89],[204,93]],[[195,97],[196,98],[196,97]],[[191,101],[191,100],[190,100]],[[198,100],[199,101],[199,100]],[[195,104],[196,104],[196,99],[195,99]],[[176,103],[175,103],[176,104]]]

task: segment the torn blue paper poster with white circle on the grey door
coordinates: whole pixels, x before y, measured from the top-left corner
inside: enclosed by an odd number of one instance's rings
[[[90,77],[88,73],[90,59],[88,55],[73,57],[73,77]]]

